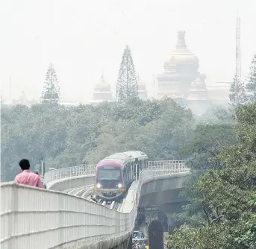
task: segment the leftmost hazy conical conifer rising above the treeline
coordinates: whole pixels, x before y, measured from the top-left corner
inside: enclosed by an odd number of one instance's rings
[[[43,104],[57,104],[60,101],[60,86],[55,69],[51,63],[46,72],[46,81],[41,99]]]

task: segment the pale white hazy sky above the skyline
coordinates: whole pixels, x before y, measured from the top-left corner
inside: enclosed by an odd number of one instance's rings
[[[235,73],[236,9],[241,18],[242,77],[256,54],[255,0],[1,0],[0,82],[9,101],[39,98],[54,64],[63,98],[86,101],[101,72],[115,85],[125,45],[146,83],[163,72],[177,31],[199,57],[207,83]]]

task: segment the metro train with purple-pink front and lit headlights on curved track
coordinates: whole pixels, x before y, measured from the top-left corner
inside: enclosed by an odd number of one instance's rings
[[[136,170],[137,165],[137,170]],[[148,166],[148,156],[141,151],[126,151],[105,157],[96,166],[96,200],[122,201],[125,191]]]

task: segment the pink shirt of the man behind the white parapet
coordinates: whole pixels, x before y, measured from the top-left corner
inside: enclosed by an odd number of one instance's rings
[[[19,184],[36,186],[42,189],[44,188],[40,176],[29,169],[25,169],[22,173],[17,174],[14,181]]]

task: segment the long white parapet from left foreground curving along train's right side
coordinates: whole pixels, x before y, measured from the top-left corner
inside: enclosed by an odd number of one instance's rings
[[[146,180],[189,171],[184,164],[163,164],[142,171],[136,198],[127,213],[62,192],[2,183],[1,249],[88,246],[102,240],[106,248],[111,248],[115,238],[122,235],[128,239],[134,229],[140,190]]]

